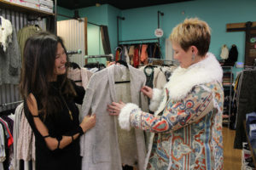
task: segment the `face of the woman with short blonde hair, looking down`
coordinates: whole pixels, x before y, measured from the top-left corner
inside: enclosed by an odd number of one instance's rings
[[[194,63],[191,59],[191,56],[193,54],[191,48],[189,48],[187,51],[184,51],[177,42],[172,42],[172,48],[174,51],[174,59],[177,59],[179,65],[182,68],[188,68]]]

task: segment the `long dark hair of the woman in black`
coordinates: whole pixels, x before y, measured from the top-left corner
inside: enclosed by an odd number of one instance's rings
[[[43,114],[44,117],[61,109],[60,99],[49,95],[49,80],[54,74],[55,55],[59,42],[67,52],[61,37],[46,31],[29,37],[25,43],[20,77],[20,94],[25,100],[29,94],[35,95],[36,99],[39,99],[38,104],[42,105],[39,113]],[[61,95],[66,98],[76,95],[73,85],[67,79],[67,71],[66,74],[57,77],[57,82],[60,84]]]

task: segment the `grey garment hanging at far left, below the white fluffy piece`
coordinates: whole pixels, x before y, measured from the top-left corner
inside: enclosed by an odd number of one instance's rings
[[[20,82],[20,47],[17,42],[15,27],[13,27],[12,40],[3,52],[0,49],[0,85],[19,84]]]

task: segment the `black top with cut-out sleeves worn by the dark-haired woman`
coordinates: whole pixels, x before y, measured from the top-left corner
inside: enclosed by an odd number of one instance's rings
[[[61,97],[59,91],[58,82],[50,82],[49,95],[54,95],[60,99],[62,109],[60,108],[55,114],[51,116],[46,116],[45,119],[40,117],[44,122],[44,125],[49,129],[49,135],[53,138],[61,138],[61,136],[71,136],[75,133],[79,133],[79,109],[77,104],[82,104],[84,99],[85,90],[83,87],[79,87],[73,83],[73,87],[77,93],[77,96],[74,99],[67,99]],[[37,98],[37,102],[40,99]],[[63,101],[65,99],[65,102]],[[73,120],[68,113],[68,109],[72,112]],[[42,108],[40,102],[38,102],[38,110]],[[47,147],[44,138],[38,132],[37,127],[34,124],[33,117],[29,112],[26,101],[24,101],[24,111],[26,119],[28,120],[32,131],[35,134],[35,143],[36,143],[36,169],[37,170],[70,170],[70,169],[81,169],[81,157],[80,154],[80,145],[79,138],[75,139],[73,143],[68,144],[63,149],[49,150]]]

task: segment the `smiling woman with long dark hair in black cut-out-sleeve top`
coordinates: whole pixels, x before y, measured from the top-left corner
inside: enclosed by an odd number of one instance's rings
[[[81,169],[79,136],[96,116],[79,123],[84,88],[67,79],[67,50],[60,37],[41,32],[26,41],[20,79],[24,111],[36,138],[36,169]]]

